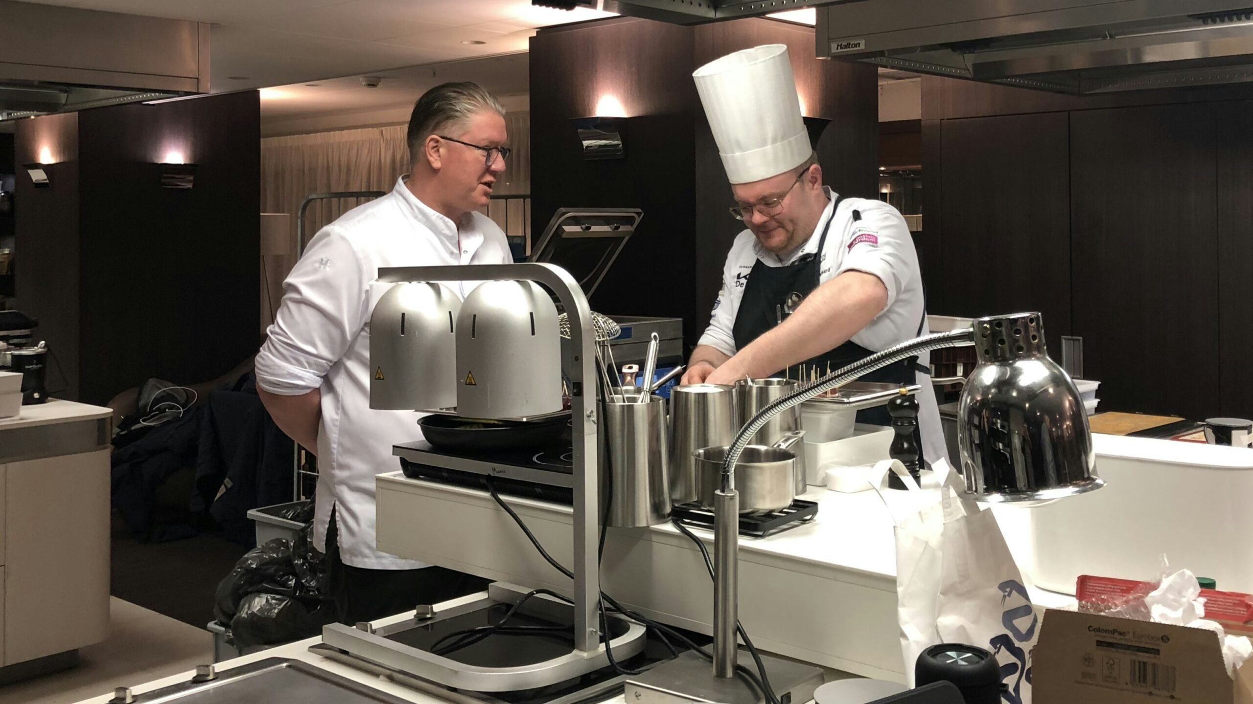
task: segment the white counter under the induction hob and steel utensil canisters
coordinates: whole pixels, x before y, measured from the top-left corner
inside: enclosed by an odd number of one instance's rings
[[[529,588],[569,594],[509,516],[482,491],[378,475],[381,550]],[[895,494],[895,492],[893,492]],[[863,676],[903,679],[893,524],[873,491],[814,490],[817,517],[739,541],[739,618],[767,651]],[[553,556],[573,562],[571,509],[506,497]],[[712,549],[713,534],[694,530]],[[672,625],[710,633],[713,586],[695,546],[669,524],[610,529],[601,588]],[[1070,598],[1032,593],[1042,606]]]

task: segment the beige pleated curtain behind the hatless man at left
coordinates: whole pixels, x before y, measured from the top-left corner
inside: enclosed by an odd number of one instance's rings
[[[514,153],[505,163],[502,183],[496,195],[529,194],[531,188],[530,115],[505,116],[509,143]],[[278,306],[283,277],[296,263],[297,214],[312,193],[345,190],[388,192],[396,179],[408,172],[407,125],[347,129],[261,140],[261,207],[264,213],[291,214],[288,254],[266,257],[262,279],[262,327],[272,318],[271,302]],[[322,225],[367,199],[317,200],[304,215],[304,241]],[[530,199],[494,202],[487,213],[509,234],[525,234],[530,220]],[[507,225],[507,227],[506,227]]]

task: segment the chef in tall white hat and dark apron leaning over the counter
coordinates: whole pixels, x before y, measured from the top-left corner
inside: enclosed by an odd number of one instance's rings
[[[807,378],[928,332],[905,218],[822,184],[787,48],[736,51],[693,78],[730,180],[732,215],[748,229],[727,256],[713,319],[683,383]],[[923,457],[935,462],[946,453],[927,363],[923,355],[863,380],[922,385]],[[858,421],[891,418],[881,407]]]

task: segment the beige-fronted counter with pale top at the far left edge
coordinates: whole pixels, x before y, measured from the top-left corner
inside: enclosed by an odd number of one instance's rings
[[[0,420],[3,666],[66,666],[109,633],[112,416],[54,400]]]

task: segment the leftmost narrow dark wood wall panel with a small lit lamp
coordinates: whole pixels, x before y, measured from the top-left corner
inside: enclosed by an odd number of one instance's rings
[[[39,318],[39,339],[56,356],[48,390],[79,398],[79,115],[48,115],[18,120],[14,160],[55,162],[48,167],[48,188],[35,188],[18,174],[14,200],[14,278],[16,307]],[[40,155],[43,153],[43,155]],[[61,375],[66,377],[61,378]],[[64,391],[63,391],[64,390]]]

